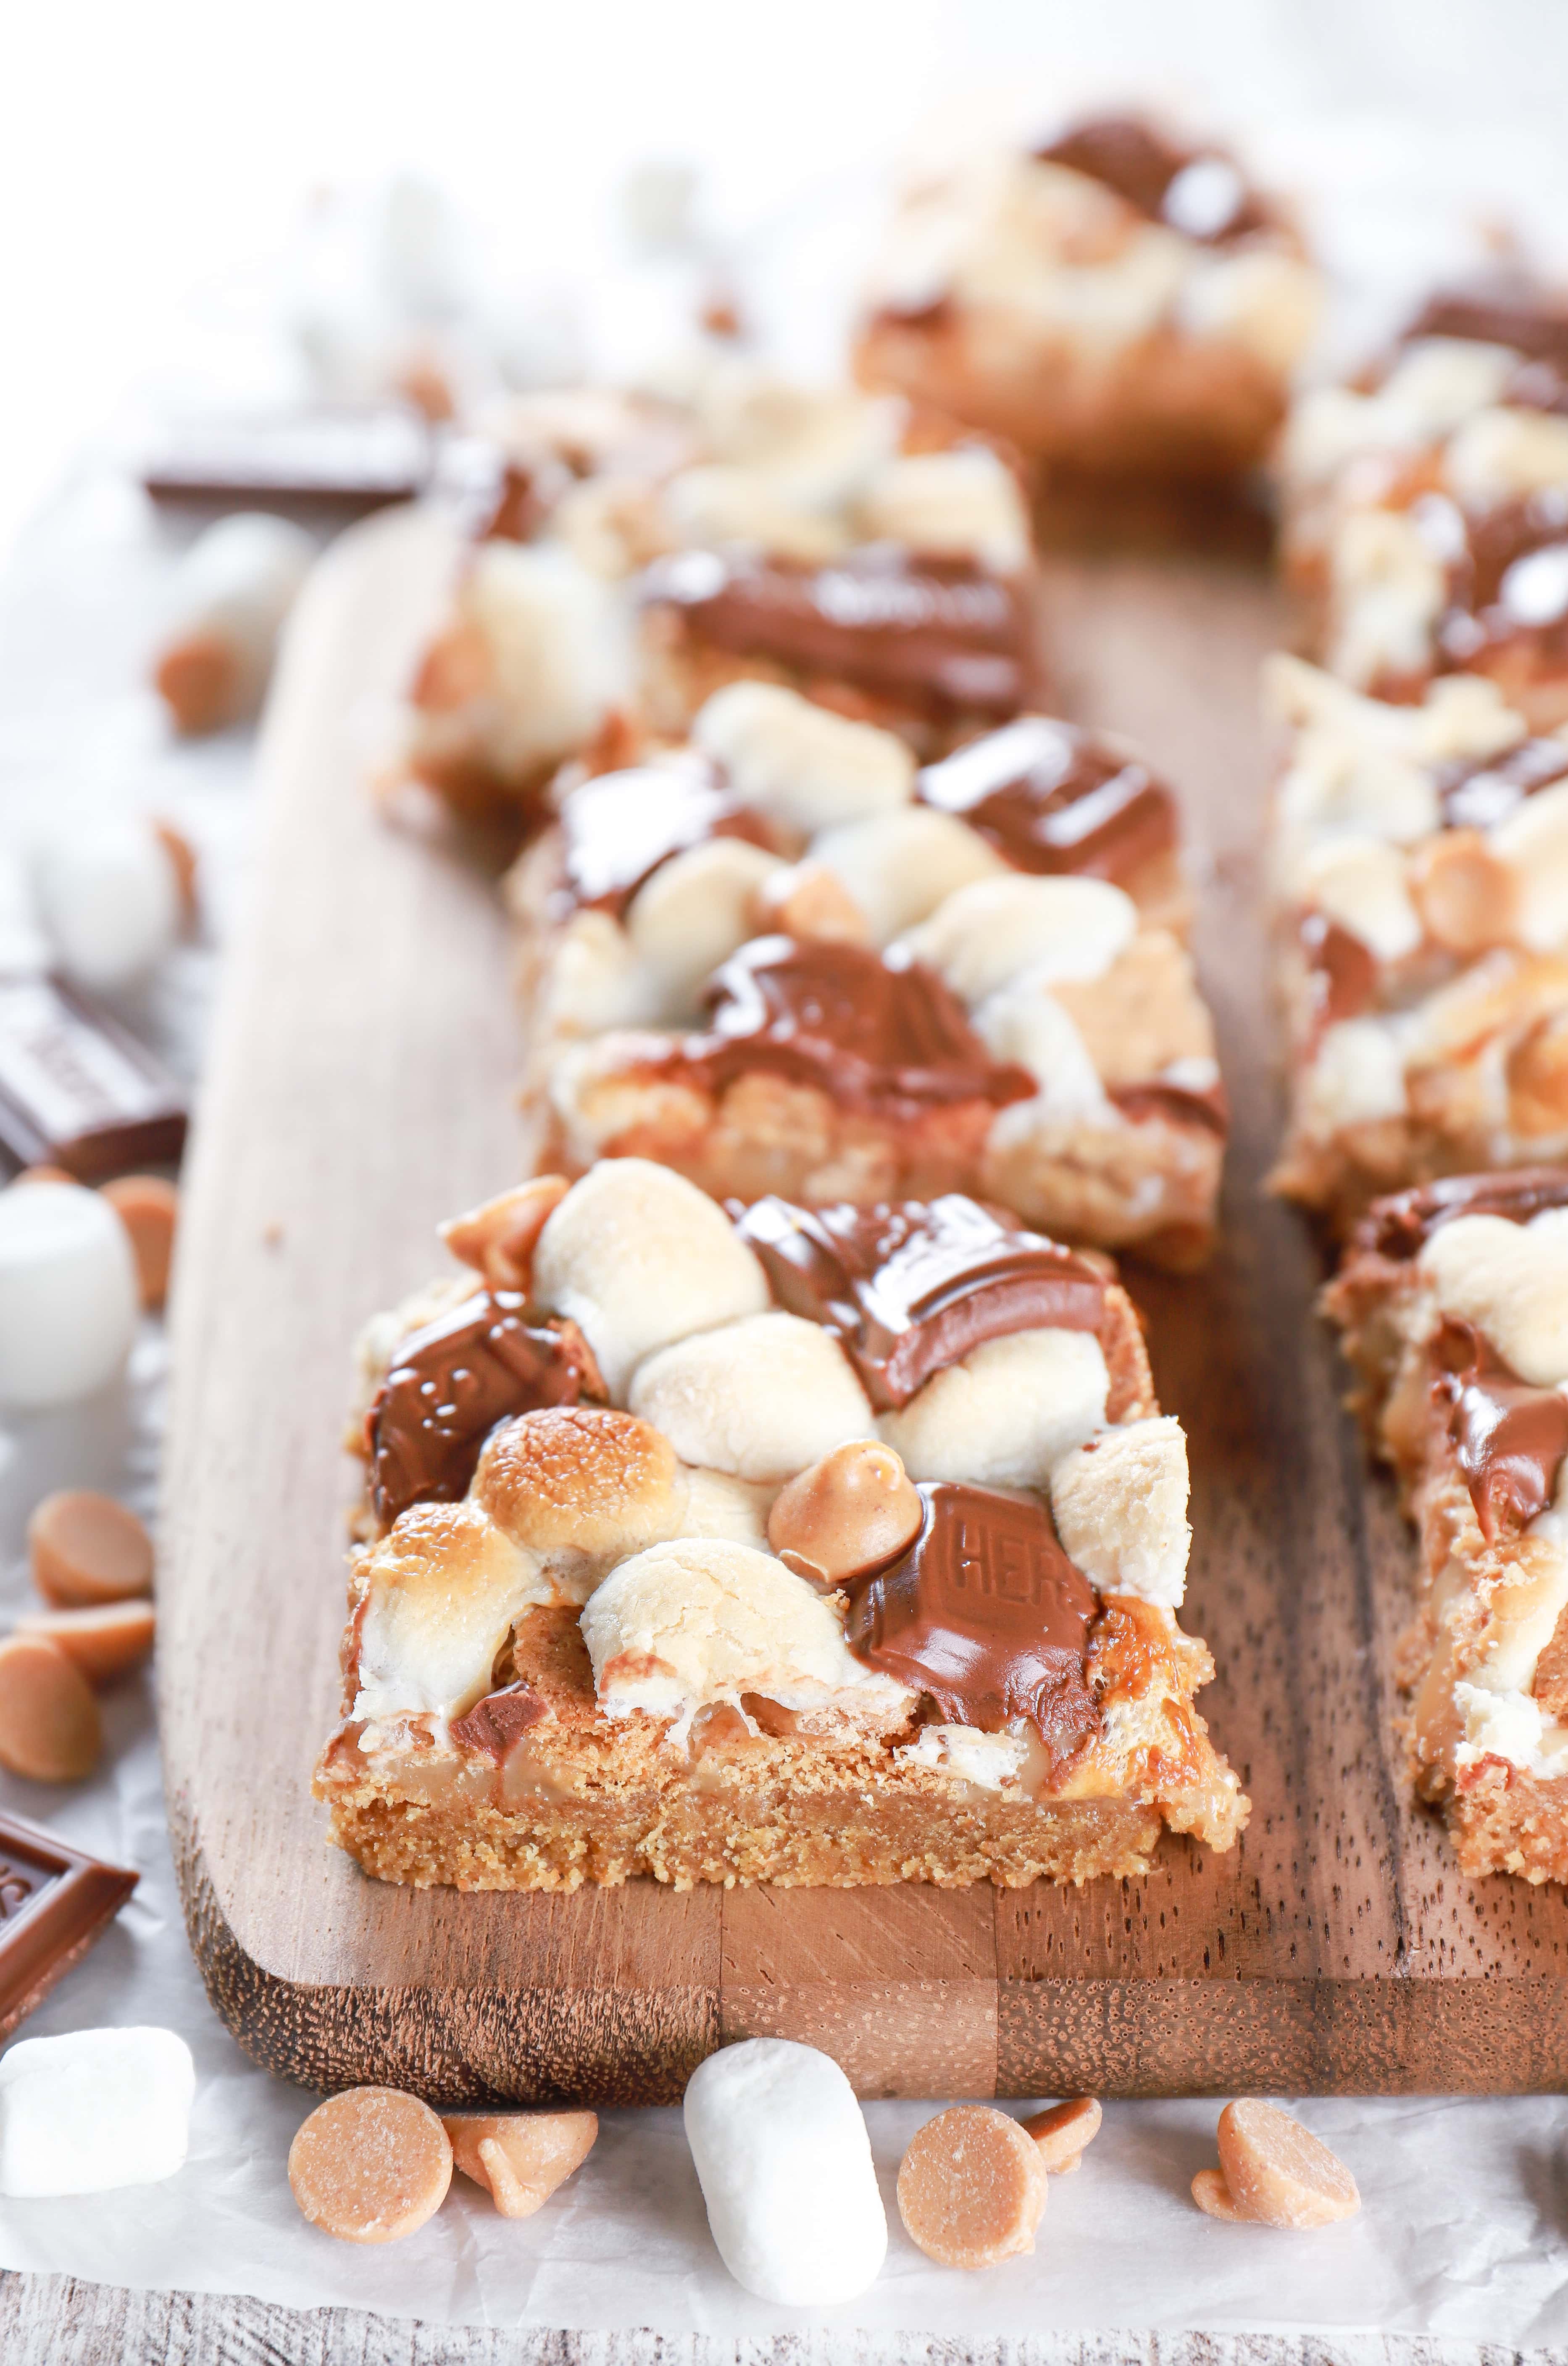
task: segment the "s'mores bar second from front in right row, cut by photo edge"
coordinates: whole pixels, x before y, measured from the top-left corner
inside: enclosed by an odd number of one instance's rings
[[[1291,726],[1275,899],[1291,1117],[1275,1185],[1379,1192],[1568,1157],[1568,736],[1497,686],[1384,705],[1270,660]]]

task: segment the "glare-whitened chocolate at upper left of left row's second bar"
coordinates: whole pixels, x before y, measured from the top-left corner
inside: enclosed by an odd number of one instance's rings
[[[627,904],[672,854],[710,838],[745,838],[769,847],[759,814],[724,786],[717,764],[695,750],[679,762],[639,764],[584,781],[561,812],[563,887],[556,918],[579,906],[620,920]]]

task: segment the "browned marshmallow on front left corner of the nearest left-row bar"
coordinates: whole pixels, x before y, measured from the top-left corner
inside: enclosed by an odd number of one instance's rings
[[[525,1609],[553,1602],[532,1552],[478,1502],[421,1502],[359,1557],[357,1718],[459,1718],[490,1687],[497,1651]]]

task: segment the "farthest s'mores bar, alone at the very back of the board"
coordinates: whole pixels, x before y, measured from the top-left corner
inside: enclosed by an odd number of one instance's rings
[[[1272,442],[1317,308],[1235,159],[1100,116],[908,192],[856,367],[1067,471],[1235,476]]]

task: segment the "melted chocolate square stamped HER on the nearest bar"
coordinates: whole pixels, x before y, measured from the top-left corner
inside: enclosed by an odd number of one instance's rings
[[[934,1481],[908,1552],[849,1602],[849,1649],[927,1692],[946,1725],[1000,1732],[1029,1718],[1052,1777],[1100,1732],[1088,1689],[1097,1597],[1034,1495]]]

